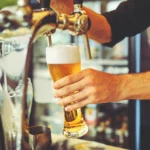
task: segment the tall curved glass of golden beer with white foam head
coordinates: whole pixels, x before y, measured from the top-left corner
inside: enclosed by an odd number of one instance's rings
[[[54,82],[81,70],[79,47],[75,44],[60,44],[47,47],[46,61]],[[85,135],[87,131],[88,127],[84,121],[81,109],[70,112],[64,110],[64,136],[78,138]]]

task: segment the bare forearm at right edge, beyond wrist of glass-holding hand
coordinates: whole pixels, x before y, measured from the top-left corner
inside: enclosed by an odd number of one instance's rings
[[[121,80],[119,100],[150,99],[150,72],[119,75],[118,77]]]

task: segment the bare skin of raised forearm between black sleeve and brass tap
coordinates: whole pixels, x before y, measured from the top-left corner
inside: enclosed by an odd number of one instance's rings
[[[110,42],[111,28],[107,19],[87,7],[83,6],[83,9],[86,11],[87,15],[91,20],[91,27],[88,31],[89,38],[101,44]]]

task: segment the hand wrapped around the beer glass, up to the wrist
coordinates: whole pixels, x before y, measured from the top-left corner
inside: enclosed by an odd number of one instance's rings
[[[66,111],[75,110],[87,104],[107,103],[121,100],[119,76],[85,69],[66,76],[54,83],[55,97]],[[77,91],[77,92],[75,92]]]

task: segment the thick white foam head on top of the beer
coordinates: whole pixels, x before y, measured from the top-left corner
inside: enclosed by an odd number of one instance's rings
[[[75,44],[58,44],[46,48],[47,64],[72,64],[80,62],[79,47]]]

